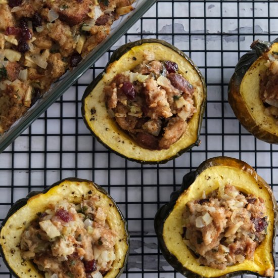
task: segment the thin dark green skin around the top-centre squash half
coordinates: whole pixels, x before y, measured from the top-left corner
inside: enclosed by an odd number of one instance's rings
[[[168,158],[168,159],[165,159],[165,160],[161,160],[161,161],[143,161],[143,160],[136,160],[136,159],[131,159],[127,156],[125,156],[124,154],[121,154],[121,153],[118,153],[118,152],[115,152],[113,149],[111,149],[108,145],[106,145],[105,143],[102,142],[102,140],[94,133],[94,131],[92,131],[89,127],[89,124],[87,123],[86,119],[85,119],[85,105],[84,105],[84,100],[85,98],[90,94],[90,92],[92,91],[92,89],[94,89],[94,87],[99,83],[99,81],[101,81],[103,75],[106,73],[106,69],[107,67],[120,59],[120,57],[122,57],[125,53],[127,53],[129,50],[131,50],[133,47],[137,47],[138,45],[142,45],[144,43],[160,43],[160,44],[163,44],[165,45],[166,47],[174,50],[175,52],[177,52],[179,55],[181,55],[182,57],[186,58],[187,61],[195,68],[196,72],[199,74],[201,80],[202,80],[202,83],[203,83],[203,88],[204,88],[204,100],[202,102],[202,105],[201,105],[201,108],[200,108],[200,117],[199,117],[199,126],[198,126],[198,132],[197,132],[197,141],[188,146],[186,149],[183,149],[181,151],[179,151],[177,154],[175,154],[174,156]],[[203,114],[205,112],[205,109],[206,109],[206,104],[207,104],[207,87],[206,87],[206,83],[205,83],[205,79],[201,73],[201,71],[196,67],[196,65],[194,64],[194,62],[186,55],[184,54],[182,51],[180,51],[179,49],[177,49],[176,47],[174,47],[172,44],[164,41],[164,40],[160,40],[160,39],[154,39],[154,38],[150,38],[150,39],[141,39],[141,40],[137,40],[137,41],[132,41],[132,42],[129,42],[129,43],[126,43],[124,45],[122,45],[120,48],[118,48],[117,50],[115,50],[113,52],[113,54],[111,55],[111,58],[109,60],[109,62],[107,63],[104,71],[102,73],[100,73],[96,79],[94,79],[89,85],[88,87],[85,89],[84,91],[84,94],[82,96],[82,100],[81,100],[81,114],[82,114],[82,117],[83,117],[83,121],[86,125],[86,127],[90,130],[91,134],[97,139],[97,141],[99,143],[101,143],[105,148],[109,149],[110,151],[114,152],[115,154],[125,158],[125,159],[128,159],[130,161],[135,161],[137,163],[141,163],[141,164],[163,164],[163,163],[167,163],[169,160],[172,160],[172,159],[175,159],[177,157],[179,157],[180,155],[182,155],[183,153],[191,150],[193,147],[195,146],[199,146],[201,144],[201,141],[199,140],[199,136],[200,136],[200,133],[201,133],[201,127],[202,127],[202,120],[203,120]],[[123,131],[124,132],[124,131]],[[134,142],[135,145],[137,145],[135,142]]]

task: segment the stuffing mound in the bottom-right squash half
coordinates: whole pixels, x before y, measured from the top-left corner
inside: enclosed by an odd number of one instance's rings
[[[201,265],[219,269],[253,260],[268,225],[264,200],[230,184],[188,202],[183,217],[184,243]]]

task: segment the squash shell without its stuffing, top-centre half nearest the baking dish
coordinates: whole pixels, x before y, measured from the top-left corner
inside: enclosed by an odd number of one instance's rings
[[[108,114],[102,94],[105,84],[109,84],[117,73],[134,69],[146,60],[146,53],[155,55],[155,60],[169,60],[178,64],[178,73],[184,76],[194,87],[194,105],[197,113],[189,120],[187,131],[171,145],[168,150],[149,150],[138,145],[116,121]],[[101,73],[86,88],[82,97],[82,117],[97,140],[116,154],[139,163],[165,163],[183,152],[200,144],[203,113],[206,106],[206,85],[200,70],[192,60],[173,45],[158,39],[142,39],[124,44],[117,49]]]

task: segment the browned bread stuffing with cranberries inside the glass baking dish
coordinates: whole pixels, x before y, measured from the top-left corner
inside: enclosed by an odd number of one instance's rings
[[[109,34],[134,0],[0,2],[0,134]]]

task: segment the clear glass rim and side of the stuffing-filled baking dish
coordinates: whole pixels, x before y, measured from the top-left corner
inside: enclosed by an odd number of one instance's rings
[[[107,38],[98,45],[71,72],[66,72],[50,90],[43,95],[27,112],[17,120],[8,131],[0,136],[0,153],[2,153],[34,120],[48,109],[62,94],[94,64],[157,0],[136,0],[135,9],[116,20]]]

